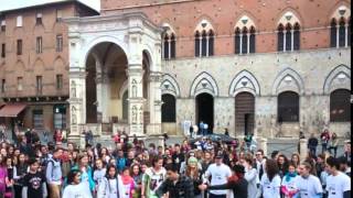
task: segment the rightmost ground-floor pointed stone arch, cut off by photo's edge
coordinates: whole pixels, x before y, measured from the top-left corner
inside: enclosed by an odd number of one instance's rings
[[[330,95],[334,89],[351,90],[351,68],[346,65],[339,65],[325,77],[323,82],[323,94]]]

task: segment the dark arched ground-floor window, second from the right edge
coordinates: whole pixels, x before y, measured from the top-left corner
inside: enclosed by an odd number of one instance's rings
[[[293,91],[285,91],[278,95],[278,122],[299,121],[299,95]]]

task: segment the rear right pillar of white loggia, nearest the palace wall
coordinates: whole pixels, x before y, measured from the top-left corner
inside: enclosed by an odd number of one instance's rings
[[[147,133],[161,134],[161,73],[151,72],[149,76],[149,111],[150,123],[147,127]]]

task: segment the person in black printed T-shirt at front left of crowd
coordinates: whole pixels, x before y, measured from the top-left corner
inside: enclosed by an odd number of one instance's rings
[[[45,176],[38,170],[39,162],[35,158],[29,160],[30,170],[23,178],[22,198],[45,198],[46,179]]]

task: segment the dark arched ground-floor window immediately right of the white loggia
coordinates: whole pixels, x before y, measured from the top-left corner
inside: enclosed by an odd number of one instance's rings
[[[175,122],[175,97],[162,95],[162,122]]]

